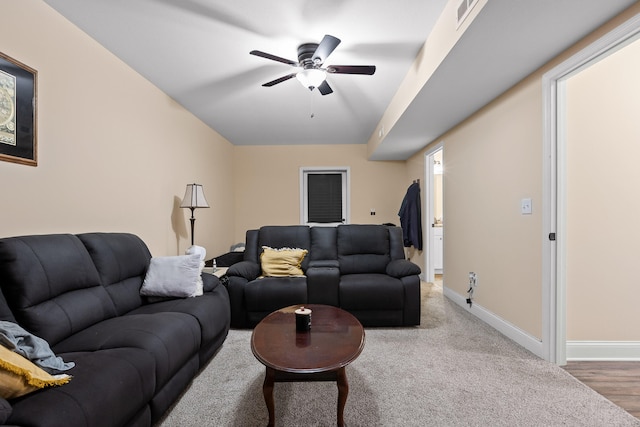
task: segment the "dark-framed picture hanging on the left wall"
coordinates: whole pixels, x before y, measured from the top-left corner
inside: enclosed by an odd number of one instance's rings
[[[37,74],[0,53],[0,160],[38,165]]]

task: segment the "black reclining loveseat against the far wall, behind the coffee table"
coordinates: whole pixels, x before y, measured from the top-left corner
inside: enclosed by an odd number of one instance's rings
[[[261,277],[262,247],[301,248],[303,277]],[[294,304],[327,304],[364,326],[420,324],[420,268],[405,259],[402,229],[385,225],[264,226],[246,233],[242,262],[229,267],[231,326],[254,327]]]

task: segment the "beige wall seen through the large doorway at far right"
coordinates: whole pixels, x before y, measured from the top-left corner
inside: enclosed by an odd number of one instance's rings
[[[640,340],[640,41],[567,82],[567,339]]]

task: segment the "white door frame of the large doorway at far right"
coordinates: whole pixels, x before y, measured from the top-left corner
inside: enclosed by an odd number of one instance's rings
[[[567,363],[566,337],[566,82],[640,35],[640,15],[629,19],[542,77],[543,89],[543,257],[542,351],[557,365]],[[555,233],[555,241],[549,235]]]

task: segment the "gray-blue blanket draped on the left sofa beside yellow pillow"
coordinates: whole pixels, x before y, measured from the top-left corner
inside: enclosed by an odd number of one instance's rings
[[[75,363],[65,362],[56,356],[48,342],[13,322],[0,321],[0,344],[26,357],[50,374],[67,371],[75,366]]]

